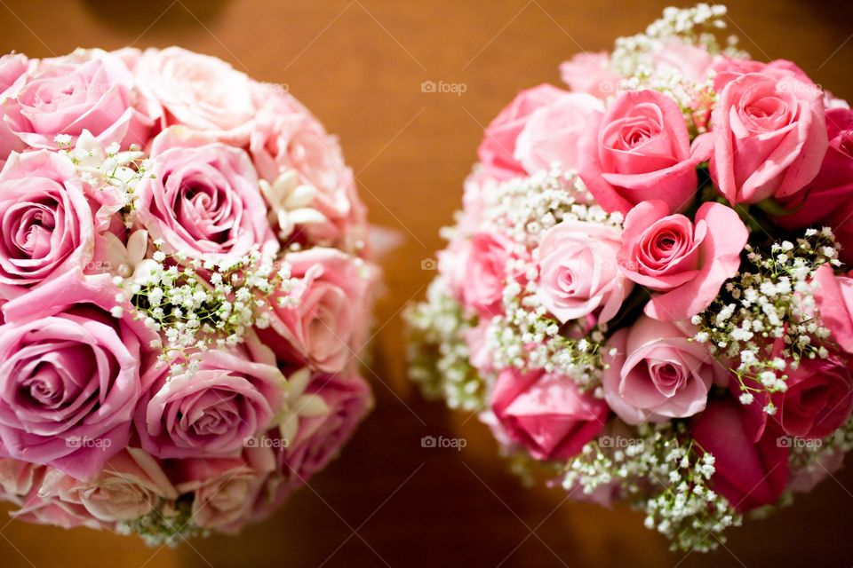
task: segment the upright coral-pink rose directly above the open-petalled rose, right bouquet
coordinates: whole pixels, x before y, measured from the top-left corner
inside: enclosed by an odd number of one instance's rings
[[[578,152],[580,177],[608,211],[650,199],[680,211],[697,192],[701,158],[690,154],[682,111],[657,91],[621,93],[590,121]]]

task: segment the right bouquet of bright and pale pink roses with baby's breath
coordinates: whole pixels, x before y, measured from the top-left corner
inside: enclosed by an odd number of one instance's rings
[[[853,111],[667,9],[486,129],[412,378],[514,469],[627,501],[676,548],[853,448]]]

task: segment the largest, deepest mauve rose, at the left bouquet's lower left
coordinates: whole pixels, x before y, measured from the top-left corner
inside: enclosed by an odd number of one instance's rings
[[[127,446],[157,335],[133,317],[108,274],[68,273],[3,306],[0,441],[4,453],[95,477]],[[116,304],[120,318],[111,315]]]

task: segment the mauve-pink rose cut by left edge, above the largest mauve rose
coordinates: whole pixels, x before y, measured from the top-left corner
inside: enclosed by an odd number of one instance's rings
[[[0,172],[0,296],[83,272],[94,251],[94,210],[65,156],[12,154]]]

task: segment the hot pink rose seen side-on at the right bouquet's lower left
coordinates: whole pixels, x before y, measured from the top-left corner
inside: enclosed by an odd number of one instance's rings
[[[566,460],[604,429],[603,400],[583,393],[570,377],[507,369],[490,399],[498,422],[537,460]]]

